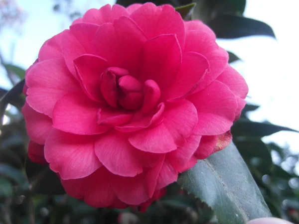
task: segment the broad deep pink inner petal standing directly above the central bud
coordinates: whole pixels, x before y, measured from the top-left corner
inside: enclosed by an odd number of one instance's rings
[[[98,29],[92,44],[94,54],[105,58],[111,66],[137,74],[140,51],[147,38],[136,23],[126,16],[113,24],[104,23]]]

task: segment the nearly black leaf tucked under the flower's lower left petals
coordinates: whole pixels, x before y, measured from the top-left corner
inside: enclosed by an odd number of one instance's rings
[[[32,192],[46,195],[65,194],[57,174],[50,170],[48,165],[33,163],[27,157],[25,170]]]

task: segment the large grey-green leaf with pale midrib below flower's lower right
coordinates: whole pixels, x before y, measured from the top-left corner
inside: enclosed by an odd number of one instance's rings
[[[245,224],[271,213],[237,148],[199,160],[178,178],[182,189],[210,206],[220,223]]]

